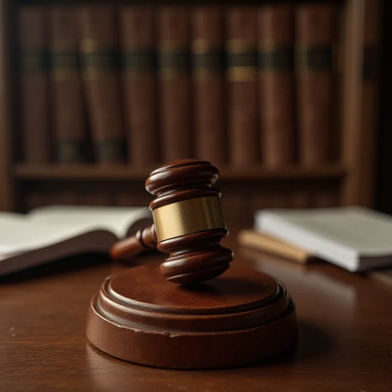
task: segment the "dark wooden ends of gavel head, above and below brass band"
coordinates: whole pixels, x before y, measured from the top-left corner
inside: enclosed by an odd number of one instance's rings
[[[150,203],[151,211],[197,197],[221,197],[220,190],[212,187],[218,175],[218,169],[207,161],[179,159],[163,165],[146,180],[147,191],[157,196]],[[233,259],[233,252],[220,245],[227,234],[222,227],[160,241],[157,249],[170,253],[161,264],[161,273],[180,284],[203,282],[221,275]]]

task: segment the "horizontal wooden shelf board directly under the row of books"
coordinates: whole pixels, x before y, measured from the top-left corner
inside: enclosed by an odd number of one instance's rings
[[[156,167],[20,163],[15,167],[15,176],[21,180],[146,180],[154,169]],[[330,163],[314,169],[293,166],[271,170],[260,166],[246,169],[220,167],[219,171],[220,179],[225,180],[322,179],[341,178],[346,174],[345,168],[338,163]]]

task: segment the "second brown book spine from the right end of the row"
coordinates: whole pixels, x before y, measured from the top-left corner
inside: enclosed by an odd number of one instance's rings
[[[261,152],[267,167],[294,162],[294,9],[259,11]]]

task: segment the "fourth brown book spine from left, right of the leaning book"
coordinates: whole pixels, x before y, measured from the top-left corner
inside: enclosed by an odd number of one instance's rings
[[[157,164],[155,31],[151,8],[123,7],[120,13],[128,160]]]

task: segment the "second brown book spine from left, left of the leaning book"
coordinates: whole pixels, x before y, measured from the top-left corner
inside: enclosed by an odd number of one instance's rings
[[[73,8],[53,6],[49,19],[55,157],[59,162],[82,162],[87,135],[78,66],[77,14]]]

